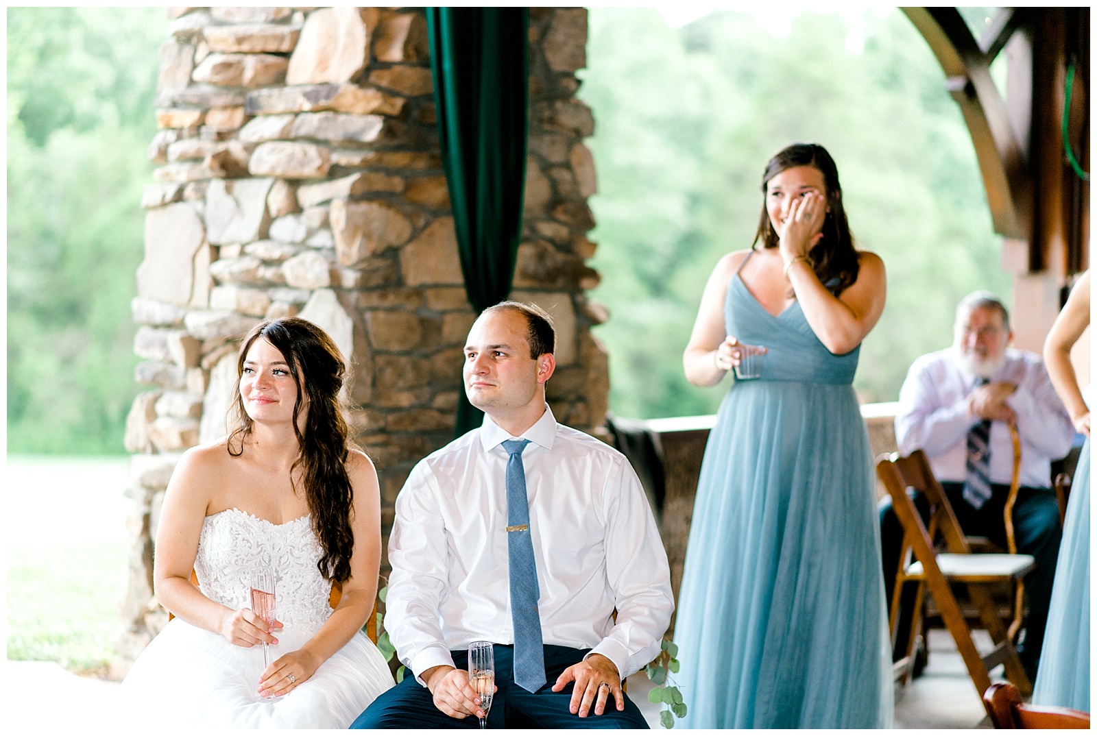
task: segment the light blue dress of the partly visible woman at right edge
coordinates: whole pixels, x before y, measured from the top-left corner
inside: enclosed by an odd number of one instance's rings
[[[1032,702],[1089,711],[1089,440],[1074,472]]]

